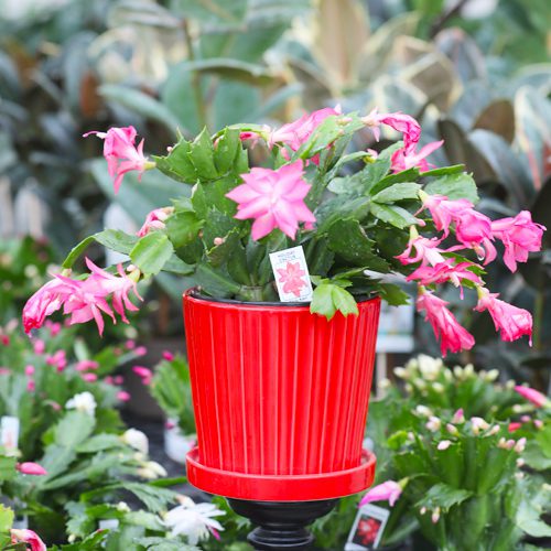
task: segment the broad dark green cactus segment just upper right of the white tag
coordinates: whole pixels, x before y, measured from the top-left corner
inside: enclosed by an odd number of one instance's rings
[[[374,250],[375,241],[369,239],[354,218],[343,218],[333,223],[327,230],[328,247],[338,257],[354,266],[388,272],[390,267]]]

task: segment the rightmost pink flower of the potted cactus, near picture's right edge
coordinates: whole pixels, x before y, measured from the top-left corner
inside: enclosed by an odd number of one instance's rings
[[[491,223],[494,237],[505,245],[504,262],[511,272],[517,262],[526,262],[528,253],[541,250],[541,237],[545,226],[532,222],[528,210],[521,210],[514,218],[501,218]]]

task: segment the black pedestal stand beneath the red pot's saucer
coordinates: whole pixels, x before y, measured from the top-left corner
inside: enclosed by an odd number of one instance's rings
[[[230,507],[258,528],[249,543],[258,551],[307,550],[314,537],[306,530],[315,519],[329,512],[338,499],[318,501],[249,501],[228,499]]]

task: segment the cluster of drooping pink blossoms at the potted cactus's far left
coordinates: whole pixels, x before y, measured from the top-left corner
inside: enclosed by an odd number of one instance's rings
[[[138,294],[136,277],[126,274],[122,266],[118,266],[118,276],[114,276],[86,259],[90,276],[84,280],[71,279],[61,273],[39,289],[26,302],[23,309],[23,326],[26,333],[43,325],[45,318],[63,307],[64,314],[71,314],[71,324],[85,323],[95,320],[99,334],[104,332],[102,313],[116,323],[114,311],[128,323],[126,310],[137,311],[138,307],[130,301],[130,291]],[[139,272],[137,273],[139,277]],[[111,305],[107,302],[111,300]],[[126,309],[126,310],[125,310]],[[63,358],[52,357],[46,363],[63,369],[66,365]]]

